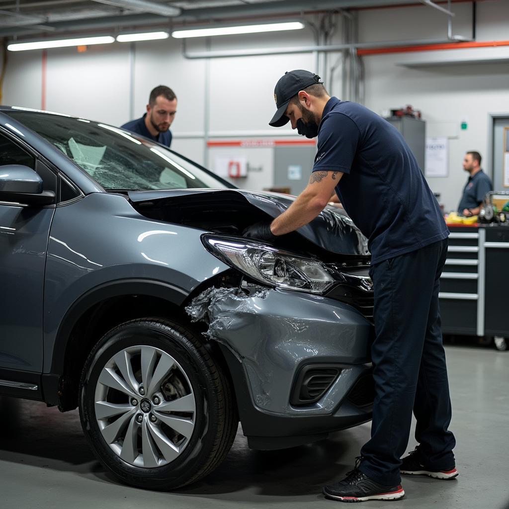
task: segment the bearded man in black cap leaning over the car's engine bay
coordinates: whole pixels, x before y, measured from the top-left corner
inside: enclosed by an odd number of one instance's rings
[[[320,78],[292,71],[276,84],[270,122],[318,136],[309,184],[271,222],[245,236],[274,240],[315,218],[335,191],[368,238],[375,292],[375,401],[371,439],[345,479],[325,486],[341,501],[398,499],[401,473],[453,478],[454,435],[438,308],[449,234],[440,208],[397,129],[369,109],[329,97]],[[412,410],[419,446],[403,461]]]

